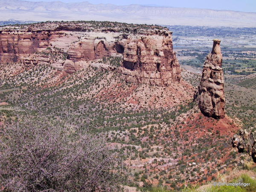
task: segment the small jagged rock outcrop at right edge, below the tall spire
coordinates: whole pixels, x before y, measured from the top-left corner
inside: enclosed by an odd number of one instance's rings
[[[239,135],[234,135],[232,138],[232,143],[239,152],[246,152],[256,162],[256,131],[241,129]]]

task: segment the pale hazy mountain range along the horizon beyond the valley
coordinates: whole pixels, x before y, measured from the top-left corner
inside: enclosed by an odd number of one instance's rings
[[[186,6],[186,5],[184,5]],[[1,20],[109,20],[126,23],[190,26],[256,27],[255,12],[160,7],[154,5],[94,5],[0,0]]]

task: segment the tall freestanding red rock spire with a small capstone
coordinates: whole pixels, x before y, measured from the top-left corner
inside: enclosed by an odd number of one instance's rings
[[[198,106],[206,116],[224,118],[224,73],[222,69],[222,54],[220,40],[213,40],[212,52],[204,62],[201,83],[198,86]]]

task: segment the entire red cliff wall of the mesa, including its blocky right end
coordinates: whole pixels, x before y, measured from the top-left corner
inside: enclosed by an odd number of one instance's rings
[[[172,32],[122,23],[103,27],[91,23],[36,23],[0,28],[0,62],[49,63],[74,73],[84,61],[123,56],[118,72],[126,81],[168,86],[180,81],[180,65],[172,46]]]

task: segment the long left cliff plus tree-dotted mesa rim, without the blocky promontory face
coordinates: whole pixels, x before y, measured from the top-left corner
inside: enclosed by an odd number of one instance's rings
[[[146,28],[124,28],[123,23],[111,22],[47,22],[4,26],[0,27],[0,62],[19,62],[21,56],[44,51],[47,47],[63,49],[73,61],[102,58],[122,53],[125,46],[122,40],[129,34],[154,35],[159,27]]]

